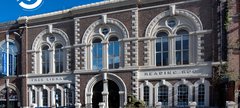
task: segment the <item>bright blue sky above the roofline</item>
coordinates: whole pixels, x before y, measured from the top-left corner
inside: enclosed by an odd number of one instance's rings
[[[0,23],[14,21],[21,16],[54,12],[100,1],[103,0],[2,0]]]

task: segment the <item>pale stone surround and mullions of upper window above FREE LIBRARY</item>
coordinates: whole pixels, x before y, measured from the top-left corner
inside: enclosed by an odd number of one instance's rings
[[[50,41],[50,37],[54,36],[55,40]],[[63,46],[63,61],[67,61],[67,63],[64,63],[63,65],[63,72],[68,72],[68,65],[69,65],[69,57],[67,57],[67,48],[70,46],[70,41],[68,39],[67,34],[57,28],[52,28],[52,32],[49,33],[49,30],[43,30],[38,34],[38,36],[35,38],[33,44],[32,44],[32,50],[30,52],[33,53],[33,61],[34,61],[34,66],[32,67],[35,70],[33,71],[33,74],[42,74],[42,46],[47,45],[49,47],[50,51],[50,71],[49,74],[56,73],[55,72],[55,45],[61,44]]]

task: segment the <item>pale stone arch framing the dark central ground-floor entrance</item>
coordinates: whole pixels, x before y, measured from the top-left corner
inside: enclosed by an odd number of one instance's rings
[[[92,103],[92,97],[93,97],[93,87],[94,85],[102,80],[102,74],[98,74],[93,76],[87,83],[87,86],[85,88],[85,104],[89,105]],[[107,74],[108,80],[112,80],[115,82],[119,87],[119,95],[120,95],[120,106],[123,107],[124,104],[126,104],[127,101],[127,87],[124,83],[124,81],[117,75],[113,73]]]

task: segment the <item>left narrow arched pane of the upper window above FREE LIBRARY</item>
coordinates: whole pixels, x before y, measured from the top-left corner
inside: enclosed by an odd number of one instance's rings
[[[43,74],[47,74],[49,73],[49,47],[48,46],[44,46],[42,47],[42,73]]]

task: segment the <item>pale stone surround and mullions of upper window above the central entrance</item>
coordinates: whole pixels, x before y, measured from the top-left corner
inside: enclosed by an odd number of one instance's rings
[[[108,28],[109,32],[107,34],[103,34],[101,32],[102,28]],[[82,38],[82,44],[86,44],[85,47],[85,61],[91,61],[91,62],[85,62],[85,69],[86,70],[92,70],[92,40],[95,37],[100,37],[102,39],[103,45],[103,69],[109,69],[108,68],[108,40],[111,36],[116,36],[119,39],[120,42],[120,66],[119,68],[124,66],[124,45],[121,43],[124,38],[129,37],[128,30],[126,26],[119,20],[113,19],[113,18],[107,18],[105,17],[105,21],[103,19],[97,20],[93,22],[85,31],[83,38]]]

